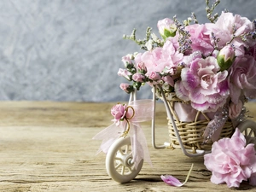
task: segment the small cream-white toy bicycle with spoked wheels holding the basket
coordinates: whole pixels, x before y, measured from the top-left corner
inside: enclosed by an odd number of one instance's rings
[[[203,154],[207,154],[211,151],[211,149],[207,150],[201,147],[196,147],[198,144],[195,144],[194,147],[188,148],[187,140],[181,136],[183,134],[182,125],[176,125],[178,122],[177,117],[173,117],[173,106],[167,101],[166,96],[163,92],[161,92],[161,99],[163,100],[166,106],[167,118],[169,119],[169,124],[172,125],[172,129],[174,133],[170,133],[170,135],[175,135],[177,141],[171,141],[169,143],[164,143],[163,145],[157,146],[155,144],[155,105],[156,105],[156,96],[155,96],[156,88],[153,88],[153,102],[154,102],[154,117],[152,119],[152,145],[155,149],[160,148],[177,148],[173,147],[175,143],[178,143],[179,148],[183,151],[183,154],[189,157],[200,156]],[[130,101],[136,100],[136,92],[132,92],[130,96]],[[206,119],[209,122],[209,119]],[[200,121],[197,121],[201,123]],[[197,125],[199,124],[197,123]],[[237,125],[241,133],[246,137],[247,143],[255,143],[256,144],[256,123],[252,120],[244,120]],[[233,128],[234,130],[234,128]],[[194,144],[193,144],[194,145]],[[126,183],[131,181],[133,178],[137,177],[137,174],[141,171],[143,167],[143,160],[141,160],[137,166],[134,166],[134,157],[132,154],[131,147],[131,137],[119,137],[108,149],[108,154],[106,157],[106,168],[108,175],[113,178],[114,181],[119,183]]]

